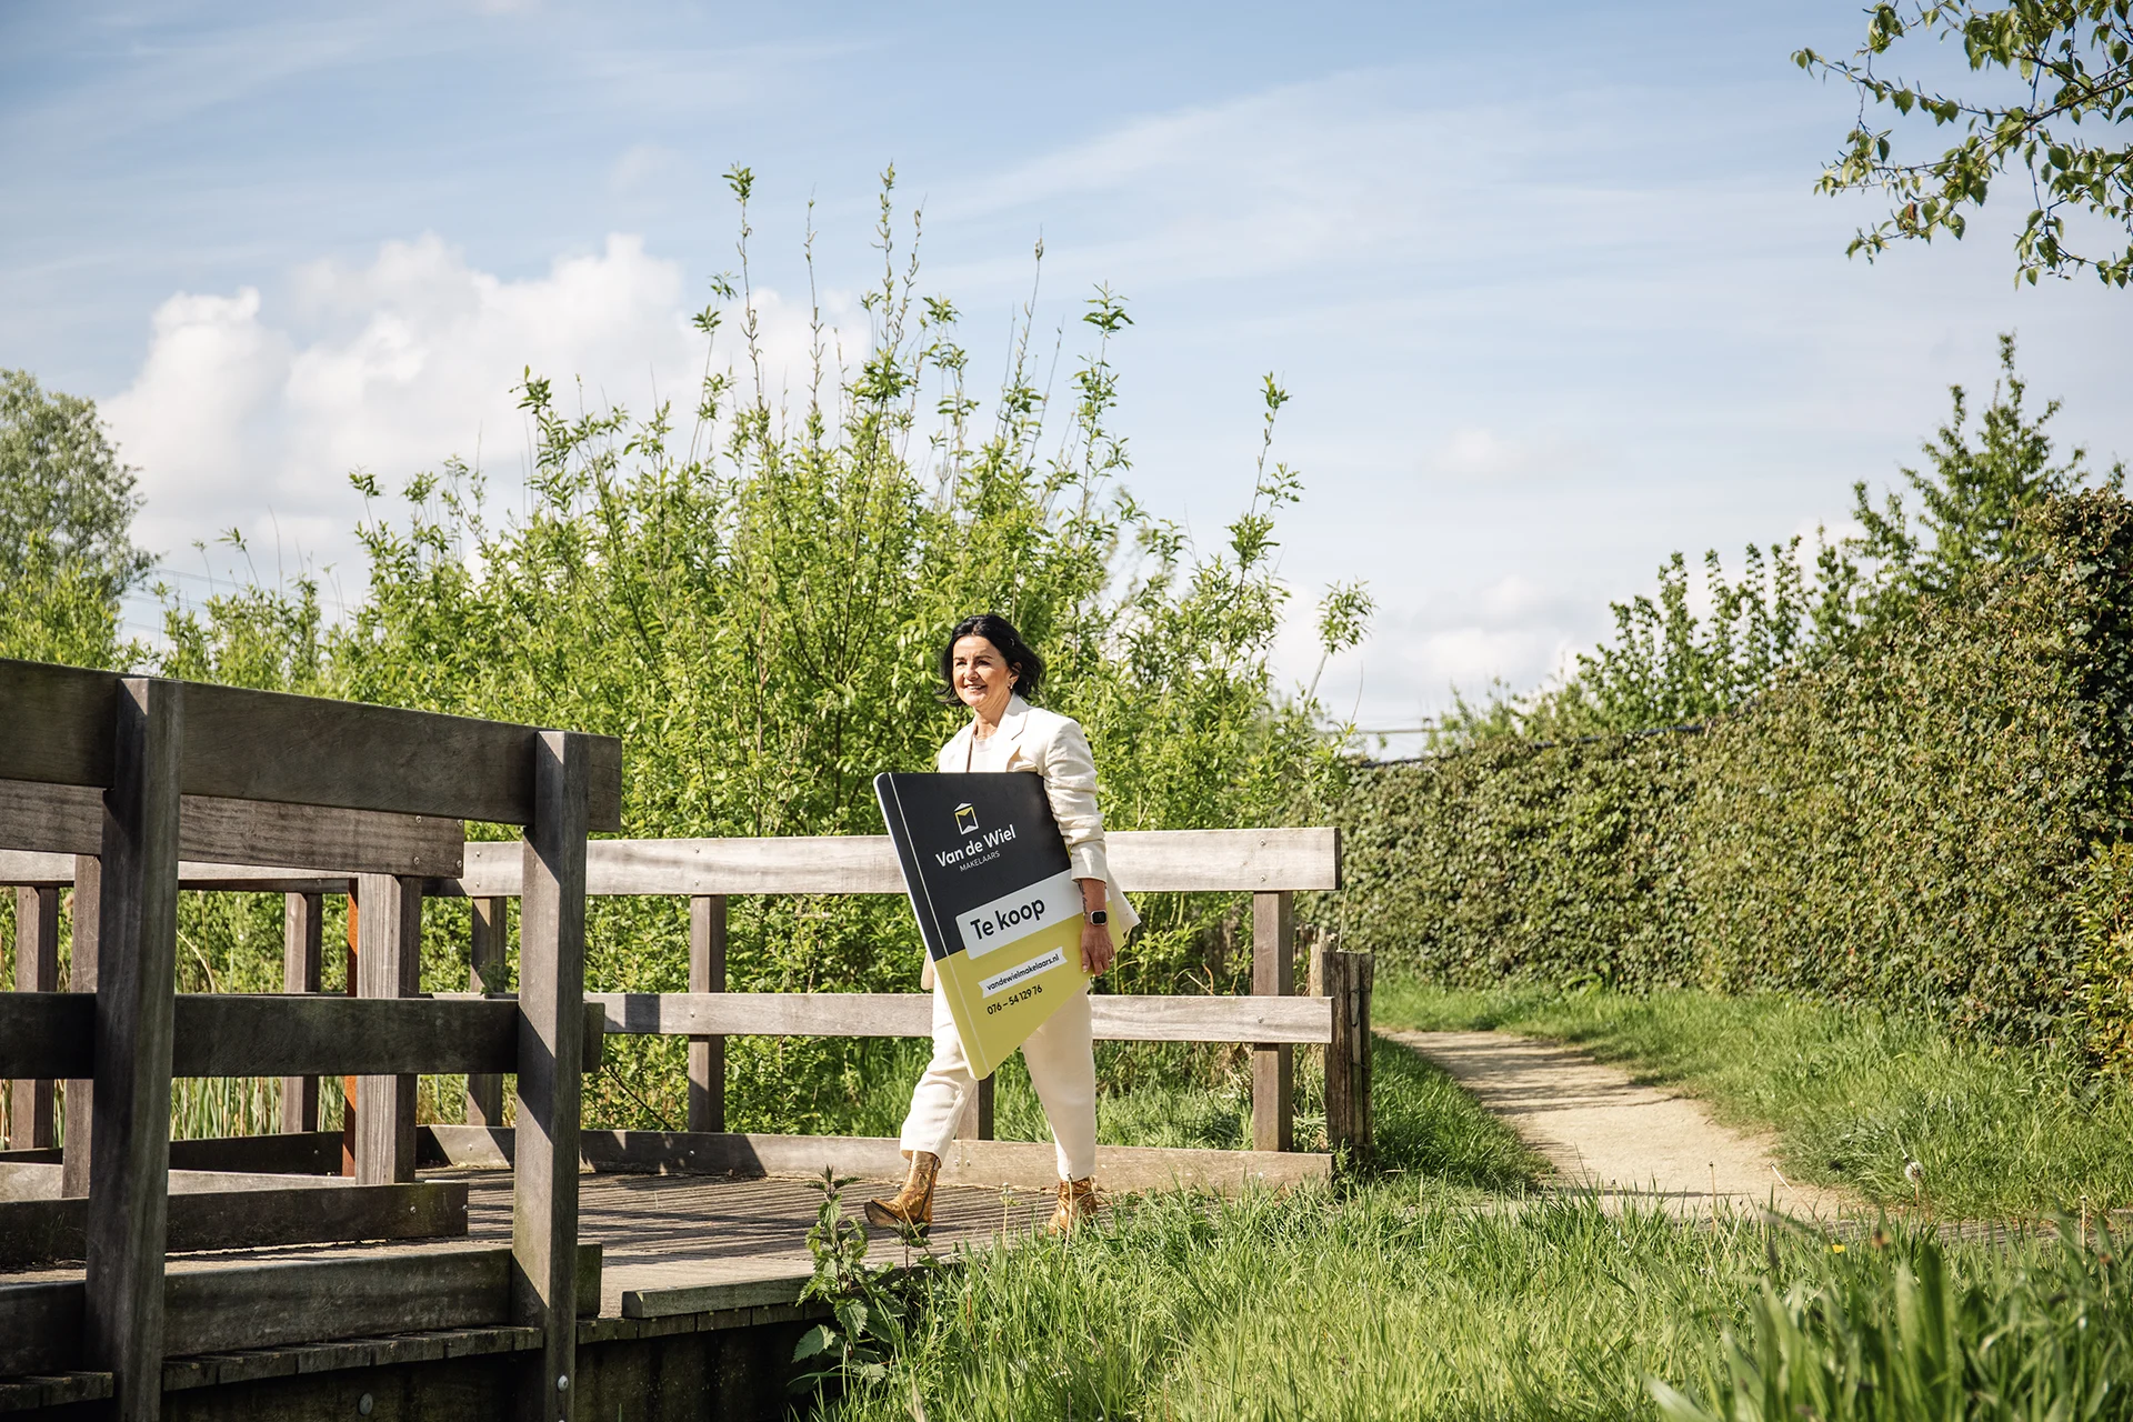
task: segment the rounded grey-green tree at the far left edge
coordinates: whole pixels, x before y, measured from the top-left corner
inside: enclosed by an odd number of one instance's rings
[[[154,565],[132,542],[139,510],[96,401],[0,371],[0,578],[49,578],[64,563],[115,601]]]

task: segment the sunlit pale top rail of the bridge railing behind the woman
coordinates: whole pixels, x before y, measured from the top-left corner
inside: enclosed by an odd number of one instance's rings
[[[1337,829],[1118,829],[1105,836],[1111,872],[1135,893],[1337,889]],[[456,880],[433,898],[510,898],[518,863],[508,844],[467,844]],[[759,840],[595,840],[584,891],[627,893],[902,893],[887,836]]]

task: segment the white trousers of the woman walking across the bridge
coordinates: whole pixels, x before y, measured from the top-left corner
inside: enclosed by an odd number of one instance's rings
[[[1060,1179],[1079,1181],[1096,1173],[1096,1053],[1090,1047],[1088,991],[1077,991],[1022,1043],[1037,1100],[1052,1124]],[[962,1034],[947,1011],[947,991],[934,987],[934,1057],[911,1094],[902,1147],[947,1156],[964,1104],[977,1092],[977,1077],[962,1055]]]

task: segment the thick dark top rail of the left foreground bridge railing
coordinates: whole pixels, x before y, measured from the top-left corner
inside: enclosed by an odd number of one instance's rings
[[[119,676],[0,661],[0,778],[113,782]],[[179,684],[179,682],[173,682]],[[542,731],[392,706],[190,684],[179,791],[525,825]],[[587,821],[621,829],[623,746],[587,738]]]

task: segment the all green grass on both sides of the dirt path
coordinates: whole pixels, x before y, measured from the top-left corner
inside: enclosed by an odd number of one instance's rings
[[[1380,987],[1378,1019],[1585,1043],[1732,1119],[1779,1124],[1802,1175],[1909,1202],[1901,1158],[1879,1164],[1901,1149],[1926,1162],[1930,1215],[2127,1198],[2105,1149],[2129,1124],[2118,1087],[2084,1089],[2071,1064],[1962,1047],[1922,1023],[1777,1000],[1401,983]],[[1107,1141],[1241,1138],[1237,1064],[1118,1051]],[[915,1055],[907,1066],[870,1111],[900,1115]],[[1316,1081],[1299,1096],[1316,1109]],[[1229,1202],[1141,1196],[1069,1245],[964,1256],[913,1309],[887,1375],[821,1413],[2133,1416],[2133,1288],[2101,1232],[1950,1243],[1924,1211],[1845,1239],[1608,1215],[1536,1196],[1540,1162],[1442,1072],[1382,1043],[1376,1109],[1382,1170],[1369,1177]],[[1003,1074],[998,1119],[1000,1134],[1041,1138],[1026,1079]],[[1822,1168],[1802,1151],[1824,1151]],[[894,1262],[896,1245],[877,1258]]]

